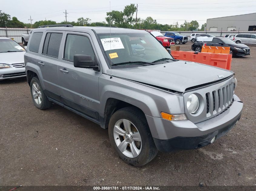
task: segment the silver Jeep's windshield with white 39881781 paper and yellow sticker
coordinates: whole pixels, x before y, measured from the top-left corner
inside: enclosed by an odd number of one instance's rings
[[[127,63],[128,65],[138,62],[151,63],[159,59],[167,59],[172,62],[170,53],[150,33],[109,33],[98,34],[101,40],[101,49],[105,53],[108,65]],[[110,43],[111,42],[111,43]],[[110,50],[111,48],[111,50]],[[162,63],[155,62],[154,64]]]

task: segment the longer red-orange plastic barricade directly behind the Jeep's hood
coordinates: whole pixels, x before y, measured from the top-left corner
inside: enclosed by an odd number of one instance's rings
[[[198,62],[219,68],[231,69],[231,54],[195,53],[191,51],[171,51],[171,55],[178,60]]]

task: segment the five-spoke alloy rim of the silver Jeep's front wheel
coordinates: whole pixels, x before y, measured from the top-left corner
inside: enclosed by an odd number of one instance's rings
[[[127,157],[135,158],[141,152],[141,136],[131,121],[120,119],[115,123],[114,139],[118,149]]]

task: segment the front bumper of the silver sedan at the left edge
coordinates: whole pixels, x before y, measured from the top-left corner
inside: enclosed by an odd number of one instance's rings
[[[9,66],[10,68],[0,69],[0,80],[21,78],[26,76],[25,67],[15,68],[12,65]]]

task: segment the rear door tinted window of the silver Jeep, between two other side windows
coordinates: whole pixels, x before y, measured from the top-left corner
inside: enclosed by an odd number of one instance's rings
[[[43,54],[58,58],[62,33],[47,33],[43,47]]]

